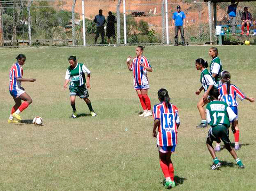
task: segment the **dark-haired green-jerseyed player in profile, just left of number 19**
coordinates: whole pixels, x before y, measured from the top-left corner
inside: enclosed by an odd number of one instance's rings
[[[198,125],[197,128],[206,128],[207,122],[206,122],[206,118],[205,118],[204,106],[206,103],[209,102],[209,100],[208,100],[209,92],[212,88],[214,88],[214,86],[216,86],[216,84],[214,83],[214,80],[211,77],[210,72],[207,70],[208,63],[206,61],[204,61],[204,59],[202,59],[202,58],[196,59],[195,67],[197,70],[201,71],[200,81],[202,84],[201,88],[199,88],[199,90],[196,91],[195,94],[199,95],[201,93],[201,91],[204,89],[204,95],[199,100],[198,105],[197,105],[201,119],[202,119],[201,124]]]

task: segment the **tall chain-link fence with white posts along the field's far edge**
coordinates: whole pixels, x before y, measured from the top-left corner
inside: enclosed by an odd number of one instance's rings
[[[172,17],[177,11],[178,4],[171,3],[170,0],[136,2],[132,0],[2,0],[0,21],[2,21],[3,44],[5,46],[174,44],[175,27]],[[217,25],[227,23],[226,13],[229,4],[217,3]],[[179,5],[186,16],[184,20],[186,43],[202,44],[216,40],[214,21],[209,19],[209,10],[213,18],[212,3],[194,2]],[[239,3],[237,24],[240,22],[244,6],[248,6],[253,17],[256,16],[256,3]],[[99,13],[100,9],[102,14]],[[181,42],[180,32],[178,42]]]

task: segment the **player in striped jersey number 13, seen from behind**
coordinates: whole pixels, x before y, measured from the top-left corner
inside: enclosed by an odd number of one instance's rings
[[[165,188],[175,187],[174,168],[171,155],[177,145],[177,129],[180,125],[178,109],[170,102],[168,91],[160,89],[158,99],[161,103],[156,104],[153,109],[154,127],[153,137],[159,150],[160,166],[165,176]],[[156,128],[158,133],[156,133]]]

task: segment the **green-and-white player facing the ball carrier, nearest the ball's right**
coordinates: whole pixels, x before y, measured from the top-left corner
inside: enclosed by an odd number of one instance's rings
[[[88,89],[91,89],[90,85],[90,78],[91,78],[91,71],[84,66],[83,63],[77,63],[76,56],[69,56],[68,62],[70,66],[67,69],[66,76],[65,76],[65,84],[64,89],[69,85],[69,92],[70,92],[70,104],[73,109],[72,117],[77,117],[77,112],[75,108],[75,98],[79,96],[81,99],[85,101],[89,110],[91,112],[91,116],[96,116],[96,113],[92,109],[91,101],[88,99],[89,93]],[[87,79],[85,78],[85,73],[87,73]],[[86,86],[85,86],[86,84]],[[88,89],[87,89],[88,88]]]

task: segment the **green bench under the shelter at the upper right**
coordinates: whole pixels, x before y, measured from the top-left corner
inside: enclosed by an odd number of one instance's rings
[[[236,26],[236,34],[235,35],[233,35],[231,33],[231,26],[229,26],[229,25],[220,25],[220,26],[221,26],[221,33],[220,33],[220,35],[217,35],[218,45],[222,45],[223,44],[224,36],[232,36],[232,37],[246,36],[246,27],[244,28],[245,29],[244,34],[243,35],[240,34],[242,32],[241,31],[241,25],[237,25]],[[230,32],[228,34],[225,34],[225,31],[226,31],[225,29],[228,29]],[[224,34],[222,34],[223,32],[224,32]],[[253,33],[253,32],[254,32],[254,30],[250,29],[250,34],[249,35],[252,36],[253,34],[251,34],[251,33]]]

